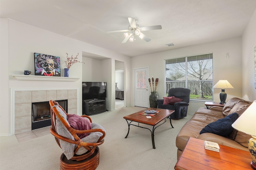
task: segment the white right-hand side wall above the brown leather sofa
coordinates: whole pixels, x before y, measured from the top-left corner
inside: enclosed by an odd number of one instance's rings
[[[256,100],[254,88],[254,47],[256,47],[256,10],[242,36],[242,96],[244,100]]]

